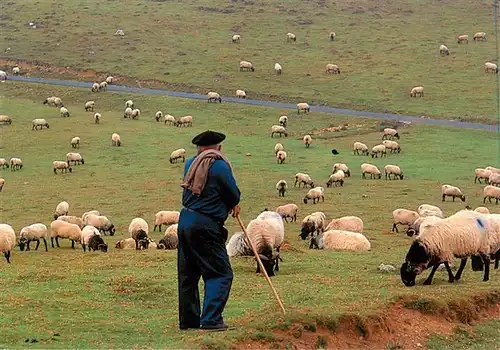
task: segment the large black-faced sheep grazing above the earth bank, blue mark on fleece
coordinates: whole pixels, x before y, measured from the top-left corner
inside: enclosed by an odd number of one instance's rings
[[[467,213],[463,213],[467,212]],[[430,285],[438,266],[444,263],[448,271],[448,282],[458,281],[467,263],[467,257],[480,255],[485,262],[483,281],[489,279],[488,220],[479,213],[462,211],[446,219],[420,226],[420,234],[413,241],[403,265],[401,280],[407,287],[415,285],[417,275],[432,266],[424,285]],[[460,267],[455,276],[449,263],[454,257],[461,258]]]

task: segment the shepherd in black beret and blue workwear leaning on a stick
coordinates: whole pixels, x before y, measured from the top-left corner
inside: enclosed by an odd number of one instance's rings
[[[233,270],[226,251],[224,228],[229,212],[239,214],[240,190],[231,163],[221,152],[224,134],[205,131],[192,143],[198,155],[184,168],[183,209],[179,217],[177,270],[180,329],[226,330],[222,319]],[[200,317],[198,282],[203,277],[205,296]]]

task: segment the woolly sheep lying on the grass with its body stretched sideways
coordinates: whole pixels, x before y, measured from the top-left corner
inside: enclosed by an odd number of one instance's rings
[[[347,250],[366,252],[371,249],[370,241],[358,232],[329,230],[312,238],[313,246],[318,249]]]

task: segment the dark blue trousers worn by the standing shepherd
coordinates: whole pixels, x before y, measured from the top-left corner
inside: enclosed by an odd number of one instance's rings
[[[227,230],[208,216],[182,209],[177,233],[179,326],[187,329],[221,324],[233,281],[225,246]],[[200,277],[205,283],[201,315]]]

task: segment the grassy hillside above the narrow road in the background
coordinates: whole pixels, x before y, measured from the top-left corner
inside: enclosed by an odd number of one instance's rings
[[[0,52],[132,77],[133,84],[154,79],[202,93],[244,89],[249,98],[493,122],[495,75],[483,71],[496,57],[491,3],[11,0],[0,4]],[[124,37],[113,35],[117,28]],[[335,42],[328,40],[332,30]],[[489,40],[474,43],[478,31]],[[231,43],[236,32],[239,45]],[[287,43],[287,32],[297,42]],[[457,44],[462,33],[469,34],[468,45]],[[450,56],[440,57],[440,44]],[[243,59],[253,62],[255,73],[239,72]],[[279,77],[275,62],[283,65]],[[327,63],[338,64],[342,74],[325,74]],[[409,98],[417,85],[426,96]]]

